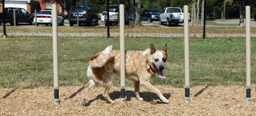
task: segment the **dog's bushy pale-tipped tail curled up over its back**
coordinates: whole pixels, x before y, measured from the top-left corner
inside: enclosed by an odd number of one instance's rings
[[[93,68],[103,67],[111,50],[112,46],[108,46],[106,49],[104,49],[104,51],[92,56],[92,58],[89,60],[90,66]]]

